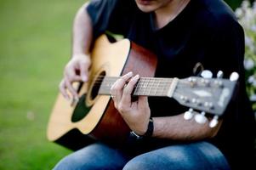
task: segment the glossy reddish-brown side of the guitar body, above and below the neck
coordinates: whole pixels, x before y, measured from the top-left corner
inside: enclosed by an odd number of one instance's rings
[[[156,56],[154,54],[132,42],[122,75],[133,71],[134,75],[139,74],[141,77],[154,77],[156,62]],[[110,100],[104,116],[90,136],[108,144],[118,145],[125,142],[129,132],[130,130],[127,124],[115,109],[113,101]]]

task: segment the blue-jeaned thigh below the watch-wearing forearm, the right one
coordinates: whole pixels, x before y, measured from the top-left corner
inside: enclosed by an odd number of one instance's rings
[[[213,144],[198,142],[167,146],[147,152],[128,161],[125,170],[130,169],[230,169],[225,156]]]

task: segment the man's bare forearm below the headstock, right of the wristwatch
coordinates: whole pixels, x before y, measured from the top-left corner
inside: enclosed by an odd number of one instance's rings
[[[216,127],[209,127],[208,122],[199,124],[191,119],[183,118],[183,114],[178,116],[154,117],[153,137],[173,140],[199,140],[213,138],[219,131],[221,121]]]

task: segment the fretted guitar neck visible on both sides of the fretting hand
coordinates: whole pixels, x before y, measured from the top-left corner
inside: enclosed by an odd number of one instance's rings
[[[99,94],[109,95],[111,86],[119,77],[104,77],[100,83]],[[174,78],[156,78],[156,77],[140,77],[137,82],[133,95],[139,96],[171,96],[173,94],[176,83]]]

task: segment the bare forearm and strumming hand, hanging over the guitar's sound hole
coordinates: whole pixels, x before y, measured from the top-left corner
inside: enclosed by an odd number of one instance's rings
[[[72,82],[87,82],[88,68],[91,65],[89,50],[93,38],[93,26],[85,9],[88,3],[82,5],[77,11],[72,33],[71,59],[65,65],[64,77],[60,82],[60,92],[66,99],[78,100],[78,94],[72,87]],[[77,74],[77,72],[79,72]],[[67,90],[71,92],[69,96]]]

